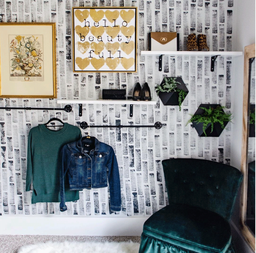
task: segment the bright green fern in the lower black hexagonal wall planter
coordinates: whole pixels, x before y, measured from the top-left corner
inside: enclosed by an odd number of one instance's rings
[[[205,107],[199,107],[204,111],[204,113],[202,115],[192,115],[192,118],[187,122],[187,124],[191,123],[191,122],[197,122],[198,123],[203,123],[203,132],[206,135],[206,127],[207,125],[210,123],[211,124],[211,133],[213,131],[213,124],[214,123],[219,123],[220,126],[222,128],[224,128],[224,122],[231,122],[231,115],[232,114],[225,114],[225,112],[223,112],[223,108],[225,108],[225,106],[217,106],[216,109],[214,108],[205,108]]]

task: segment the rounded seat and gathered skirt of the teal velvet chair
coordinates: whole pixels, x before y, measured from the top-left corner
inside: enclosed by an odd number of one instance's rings
[[[145,221],[139,253],[227,253],[231,239],[230,224],[220,215],[172,203]]]

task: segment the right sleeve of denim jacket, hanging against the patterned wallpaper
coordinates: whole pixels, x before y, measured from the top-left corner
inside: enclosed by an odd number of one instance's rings
[[[109,147],[108,183],[110,189],[110,210],[121,211],[121,187],[117,159],[113,148]]]

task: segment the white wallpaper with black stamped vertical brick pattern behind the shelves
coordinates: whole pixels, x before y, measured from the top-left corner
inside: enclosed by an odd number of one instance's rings
[[[138,7],[137,72],[73,72],[72,7]],[[191,33],[206,34],[210,51],[232,51],[233,0],[0,0],[1,22],[56,22],[58,99],[96,99],[102,89],[126,89],[131,96],[137,82],[148,83],[156,105],[129,106],[87,104],[82,117],[78,105],[72,112],[57,110],[0,110],[1,215],[108,216],[109,193],[106,188],[80,191],[80,199],[69,202],[61,213],[59,203],[31,204],[31,192],[25,191],[28,132],[51,117],[79,126],[86,121],[95,125],[154,125],[155,128],[91,128],[90,135],[111,145],[116,153],[121,180],[122,209],[111,216],[146,216],[166,204],[161,161],[167,158],[201,158],[230,163],[232,124],[220,137],[198,137],[186,122],[201,103],[217,103],[232,112],[234,83],[233,58],[218,57],[214,72],[210,57],[163,56],[158,71],[158,56],[141,56],[147,50],[148,32],[180,34],[180,49],[186,50]],[[154,87],[164,76],[181,76],[189,93],[178,106],[163,106]],[[57,99],[0,99],[0,106],[55,108]],[[82,130],[85,135],[88,130]]]

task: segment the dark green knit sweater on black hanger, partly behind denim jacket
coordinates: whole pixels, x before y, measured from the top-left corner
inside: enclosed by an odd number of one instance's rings
[[[44,124],[33,127],[28,134],[28,157],[26,191],[31,190],[32,204],[37,202],[60,202],[61,148],[82,137],[77,126],[64,123],[62,129],[54,131]],[[67,184],[68,185],[68,184]],[[65,191],[66,201],[79,199],[79,191]]]

